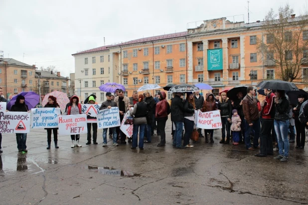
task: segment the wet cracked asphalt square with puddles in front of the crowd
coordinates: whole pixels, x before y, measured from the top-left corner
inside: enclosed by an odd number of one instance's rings
[[[156,130],[154,130],[156,134]],[[70,136],[59,136],[59,149],[46,149],[44,129],[27,136],[28,153],[18,153],[15,135],[3,134],[0,153],[1,205],[300,205],[308,204],[308,153],[290,144],[289,161],[258,158],[243,144],[219,144],[204,138],[193,148],[172,147],[171,122],[166,145],[159,136],[144,150],[130,143],[71,148]],[[274,152],[274,157],[278,152]]]

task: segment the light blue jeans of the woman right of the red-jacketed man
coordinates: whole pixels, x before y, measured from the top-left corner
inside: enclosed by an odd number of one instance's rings
[[[274,120],[274,127],[277,134],[279,155],[288,157],[289,155],[289,140],[288,140],[288,128],[289,128],[289,119]],[[285,149],[285,153],[283,151]]]

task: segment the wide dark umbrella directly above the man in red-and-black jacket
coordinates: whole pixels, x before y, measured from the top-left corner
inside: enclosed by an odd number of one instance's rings
[[[281,80],[270,80],[262,81],[257,85],[258,88],[272,89],[272,90],[282,90],[282,91],[298,91],[299,89],[294,85],[294,83],[281,81]]]

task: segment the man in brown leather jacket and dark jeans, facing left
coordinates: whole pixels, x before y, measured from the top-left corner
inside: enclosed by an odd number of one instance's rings
[[[260,135],[260,117],[257,101],[254,98],[255,89],[253,87],[247,88],[247,96],[243,99],[243,113],[245,123],[245,144],[246,149],[253,151],[250,142],[251,129],[255,131],[254,147],[259,148],[259,135]]]

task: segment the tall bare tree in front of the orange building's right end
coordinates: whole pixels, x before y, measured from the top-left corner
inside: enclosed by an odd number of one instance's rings
[[[257,39],[257,50],[264,64],[278,66],[278,77],[283,81],[302,78],[302,64],[308,64],[308,16],[295,17],[289,4],[278,13],[271,9],[265,17],[263,36]]]

